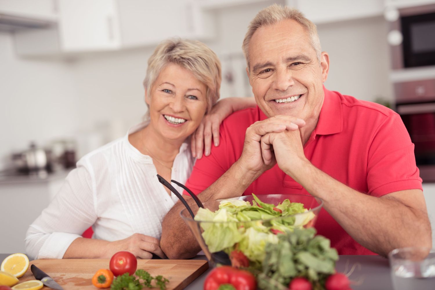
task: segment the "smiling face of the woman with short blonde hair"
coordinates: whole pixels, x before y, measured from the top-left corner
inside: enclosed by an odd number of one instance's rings
[[[158,75],[151,92],[150,125],[164,138],[184,141],[201,123],[207,110],[207,86],[190,71],[169,63]]]

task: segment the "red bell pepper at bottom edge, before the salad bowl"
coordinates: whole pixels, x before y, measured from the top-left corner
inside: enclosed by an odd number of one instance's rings
[[[218,290],[221,285],[232,285],[236,290],[255,290],[257,280],[246,270],[239,270],[230,266],[214,268],[204,282],[204,290]]]

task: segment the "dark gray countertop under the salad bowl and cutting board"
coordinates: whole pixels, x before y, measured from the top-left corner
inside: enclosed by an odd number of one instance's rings
[[[8,254],[0,254],[0,261],[3,261],[7,256]],[[205,256],[197,256],[194,259],[206,260]],[[349,276],[350,280],[355,281],[351,286],[352,289],[393,290],[390,267],[386,258],[380,256],[341,255],[336,269],[338,272],[348,273],[354,265],[356,265],[355,270]],[[205,277],[210,271],[211,267],[185,289],[202,290]]]

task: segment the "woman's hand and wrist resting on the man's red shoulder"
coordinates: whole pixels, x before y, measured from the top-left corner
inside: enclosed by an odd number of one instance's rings
[[[237,110],[255,107],[253,97],[229,97],[216,103],[211,111],[202,119],[201,124],[191,135],[191,150],[193,157],[200,159],[204,152],[210,155],[211,140],[215,147],[219,146],[219,127],[222,121]]]

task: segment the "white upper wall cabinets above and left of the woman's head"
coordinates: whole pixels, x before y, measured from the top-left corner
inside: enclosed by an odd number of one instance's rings
[[[22,56],[155,46],[169,37],[213,37],[212,17],[193,0],[58,0],[58,26],[15,33]]]

